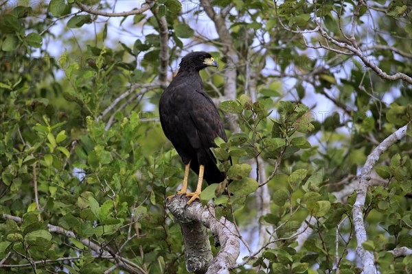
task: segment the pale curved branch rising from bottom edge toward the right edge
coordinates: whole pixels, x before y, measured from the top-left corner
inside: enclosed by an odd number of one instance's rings
[[[358,256],[361,257],[363,262],[363,271],[365,273],[376,273],[374,266],[374,254],[363,248],[362,244],[367,240],[367,234],[365,229],[365,224],[363,220],[363,207],[365,205],[365,199],[367,195],[367,188],[369,187],[369,181],[371,179],[371,171],[374,164],[379,160],[379,156],[387,151],[389,147],[398,142],[406,136],[407,126],[404,125],[396,132],[391,134],[385,140],[383,140],[378,147],[376,147],[368,156],[363,166],[361,172],[361,180],[358,185],[356,201],[352,209],[352,215],[354,220],[354,229],[356,235],[356,241],[358,242],[358,247],[356,247],[356,252]]]

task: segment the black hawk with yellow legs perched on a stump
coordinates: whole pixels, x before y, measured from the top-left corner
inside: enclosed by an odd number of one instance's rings
[[[185,55],[179,66],[161,95],[159,112],[163,132],[185,164],[183,186],[177,194],[191,197],[190,204],[201,194],[203,178],[208,184],[225,180],[210,148],[216,147],[216,137],[227,141],[227,136],[216,106],[203,91],[199,74],[207,66],[218,67],[218,62],[209,53],[197,51]],[[189,169],[198,174],[198,184],[195,192],[187,193]]]

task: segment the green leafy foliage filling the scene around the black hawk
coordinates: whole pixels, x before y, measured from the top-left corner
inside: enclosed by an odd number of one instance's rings
[[[14,265],[0,273],[119,273],[113,265],[186,273],[179,224],[165,208],[183,166],[150,109],[162,91],[162,16],[170,71],[201,42],[223,68],[202,72],[205,90],[219,97],[225,81],[236,83],[236,98],[220,109],[229,114],[228,127],[240,131],[228,131],[228,142],[216,140],[214,150],[218,159],[233,159],[233,166],[220,164],[233,181],[231,196],[222,195],[223,182],[204,186],[201,198],[214,199],[216,217],[236,222],[244,239],[265,238],[254,234],[257,226],[267,237],[262,252],[243,253],[233,273],[361,272],[351,213],[356,193],[343,200],[335,194],[356,179],[379,142],[411,121],[411,84],[382,78],[360,58],[325,48],[319,34],[300,32],[316,27],[316,14],[330,36],[352,45],[343,33],[355,18],[367,58],[388,74],[412,75],[410,3],[211,1],[226,18],[236,61],[222,37],[203,36],[214,23],[189,2],[155,1],[148,12],[116,23],[82,12],[77,1],[0,2],[0,266]],[[111,12],[114,3],[88,5]],[[114,42],[117,31],[133,41]],[[233,70],[236,79],[225,79]],[[363,247],[380,273],[412,272],[411,255],[387,252],[412,248],[411,137],[409,127],[408,140],[380,156],[366,197]],[[255,193],[266,187],[271,199],[262,213]],[[296,236],[305,234],[298,248]]]

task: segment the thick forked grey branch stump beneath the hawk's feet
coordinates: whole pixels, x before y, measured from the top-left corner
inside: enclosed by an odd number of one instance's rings
[[[185,238],[187,271],[206,274],[229,274],[240,253],[236,228],[224,217],[219,220],[214,216],[213,208],[205,208],[194,201],[187,205],[184,195],[174,196],[166,206],[179,221]],[[220,251],[212,258],[209,238],[204,227],[211,229],[220,242]],[[203,227],[203,228],[202,228]]]

